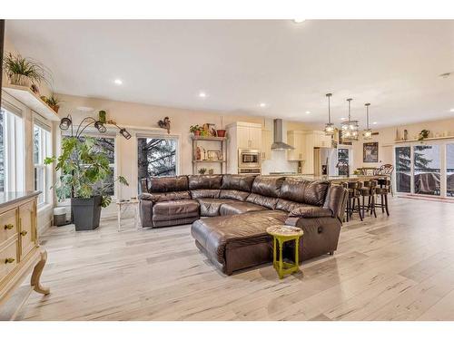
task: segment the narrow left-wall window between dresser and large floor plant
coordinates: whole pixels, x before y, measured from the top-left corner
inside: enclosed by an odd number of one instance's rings
[[[51,170],[44,165],[44,159],[51,155],[51,133],[39,125],[34,125],[33,162],[35,164],[35,190],[40,190],[38,207],[50,202]]]

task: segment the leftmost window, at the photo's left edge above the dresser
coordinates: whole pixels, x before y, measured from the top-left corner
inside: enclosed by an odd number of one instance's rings
[[[19,109],[0,110],[0,192],[25,189],[24,122]]]

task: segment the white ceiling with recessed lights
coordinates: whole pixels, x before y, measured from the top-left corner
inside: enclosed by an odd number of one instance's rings
[[[6,37],[55,92],[320,123],[333,92],[334,122],[349,97],[377,127],[454,117],[454,21],[7,21]]]

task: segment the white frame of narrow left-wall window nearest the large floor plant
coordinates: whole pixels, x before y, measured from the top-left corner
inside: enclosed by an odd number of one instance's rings
[[[39,154],[38,154],[38,163],[35,163],[35,127],[41,130],[40,133],[40,142],[39,142]],[[44,189],[43,189],[43,201],[38,203],[38,209],[45,207],[51,203],[52,191],[50,187],[52,186],[52,167],[51,165],[45,165],[44,159],[50,157],[52,154],[52,132],[50,129],[45,128],[38,121],[35,121],[33,124],[33,158],[34,158],[34,185],[35,185],[35,173],[37,169],[44,171]],[[38,199],[39,200],[39,199]]]

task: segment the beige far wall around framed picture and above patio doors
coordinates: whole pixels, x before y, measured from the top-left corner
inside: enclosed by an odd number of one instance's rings
[[[373,139],[370,141],[379,142],[379,162],[364,163],[362,161],[362,146],[363,142],[366,141],[356,141],[353,143],[353,169],[360,167],[380,167],[380,165],[386,163],[392,164],[394,145],[396,145],[394,143],[396,140],[396,130],[399,131],[400,138],[403,138],[404,130],[407,130],[409,131],[409,139],[418,139],[419,132],[424,129],[430,131],[429,137],[436,137],[437,135],[454,136],[454,118],[441,121],[425,121],[409,125],[400,125],[399,127],[374,130],[379,132],[379,134],[373,136]]]

